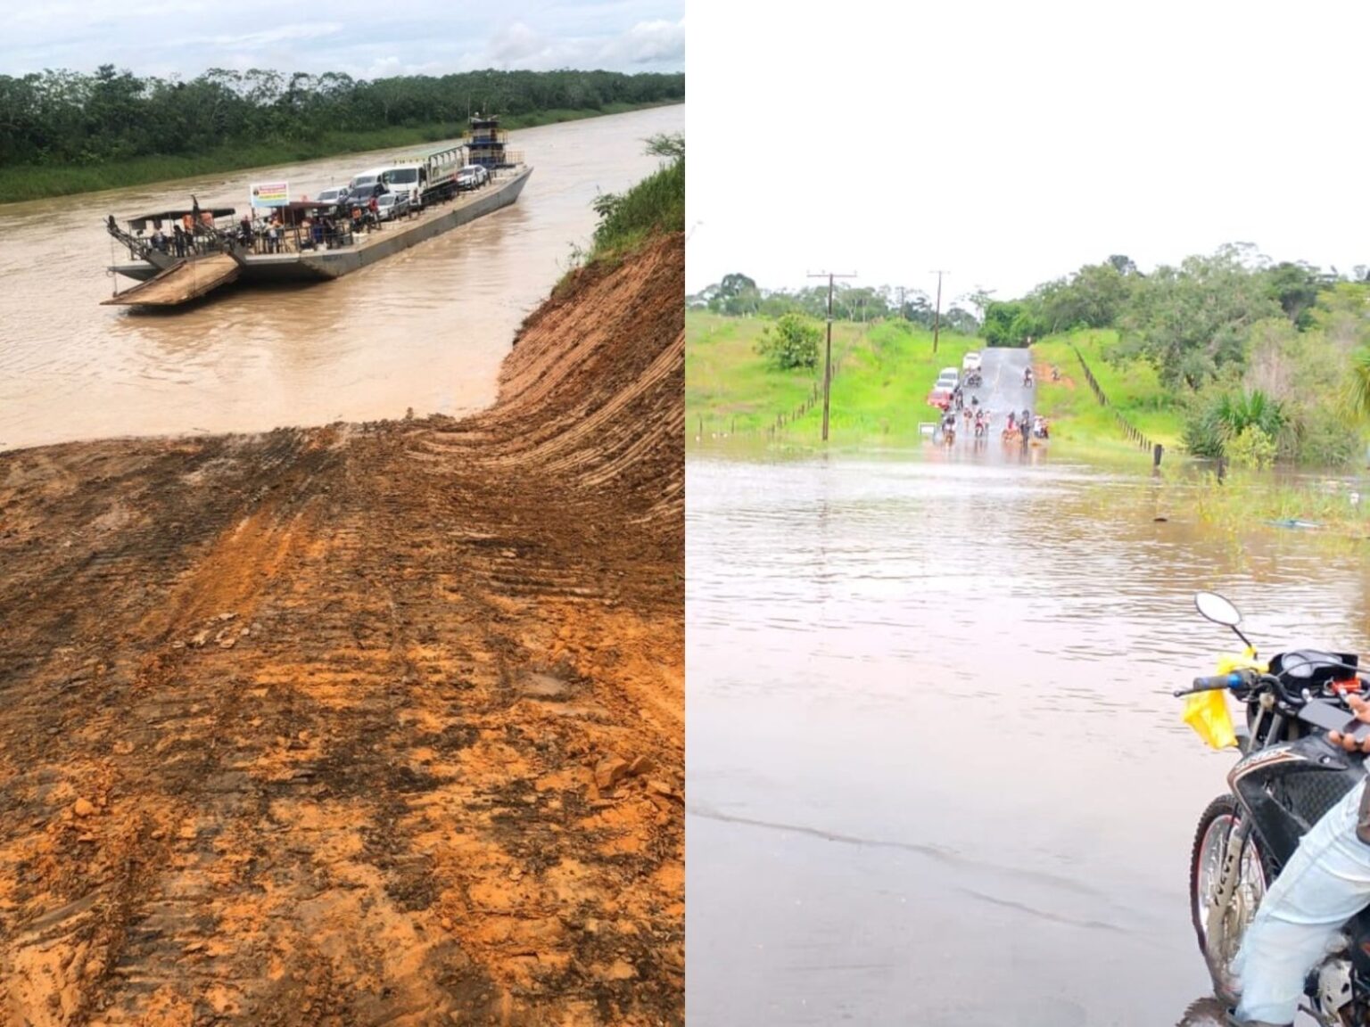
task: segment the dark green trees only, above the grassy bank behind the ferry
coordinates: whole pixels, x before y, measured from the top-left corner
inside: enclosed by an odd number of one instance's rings
[[[248,141],[458,125],[474,111],[521,115],[684,99],[684,74],[470,71],[359,81],[211,68],[178,81],[104,64],[93,75],[0,75],[0,167],[93,166]]]

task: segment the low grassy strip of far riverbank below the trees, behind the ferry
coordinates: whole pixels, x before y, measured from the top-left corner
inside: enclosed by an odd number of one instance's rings
[[[674,103],[674,101],[671,101]],[[606,104],[603,108],[534,111],[525,115],[510,115],[501,119],[506,129],[533,129],[540,125],[599,118],[610,114],[627,114],[649,107],[667,107],[664,103]],[[318,160],[344,153],[364,153],[374,149],[400,149],[421,147],[427,142],[458,138],[466,126],[459,122],[422,125],[416,127],[390,127],[374,131],[327,133],[318,140],[289,144],[263,144],[253,147],[225,147],[199,156],[158,156],[134,157],[114,164],[95,167],[0,167],[0,196],[7,201],[42,200],[56,196],[74,196],[104,189],[122,189],[153,182],[173,182],[196,175],[241,171],[244,168],[267,168],[301,160]]]

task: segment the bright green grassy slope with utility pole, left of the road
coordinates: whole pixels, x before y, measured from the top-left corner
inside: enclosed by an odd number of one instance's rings
[[[685,418],[690,438],[725,433],[762,433],[780,414],[793,414],[822,383],[817,368],[771,370],[756,353],[770,322],[725,318],[704,311],[685,314]],[[960,367],[978,340],[944,333],[937,353],[930,331],[900,322],[833,323],[833,377],[829,438],[834,444],[911,444],[918,424],[933,420],[927,393],[943,367]],[[822,346],[822,344],[821,344]],[[786,442],[822,438],[822,407],[782,429]]]

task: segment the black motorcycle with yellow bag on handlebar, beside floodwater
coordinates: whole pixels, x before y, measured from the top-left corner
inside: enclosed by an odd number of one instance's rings
[[[1206,619],[1230,627],[1245,645],[1219,660],[1218,674],[1195,678],[1185,720],[1211,746],[1236,746],[1226,794],[1199,817],[1189,864],[1189,906],[1199,949],[1214,991],[1225,1002],[1232,960],[1266,889],[1293,854],[1299,839],[1365,779],[1365,757],[1328,739],[1336,730],[1370,734],[1345,704],[1365,694],[1356,656],[1300,649],[1269,661],[1241,633],[1241,613],[1222,596],[1200,592],[1195,605]],[[1245,708],[1234,727],[1226,696]],[[1323,1027],[1370,1027],[1370,913],[1343,927],[1304,986],[1304,1011]]]

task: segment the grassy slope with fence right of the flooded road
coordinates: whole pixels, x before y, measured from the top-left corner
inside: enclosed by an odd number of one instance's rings
[[[1104,352],[1118,341],[1118,333],[1082,330],[1049,335],[1032,348],[1037,372],[1037,409],[1051,422],[1052,440],[1101,451],[1134,451],[1137,444],[1123,435],[1117,414],[1167,452],[1178,449],[1184,418],[1178,404],[1164,390],[1149,364],[1134,360],[1115,367]],[[1075,348],[1089,364],[1095,381],[1108,397],[1108,407],[1095,398]],[[1051,381],[1051,368],[1060,381]]]

